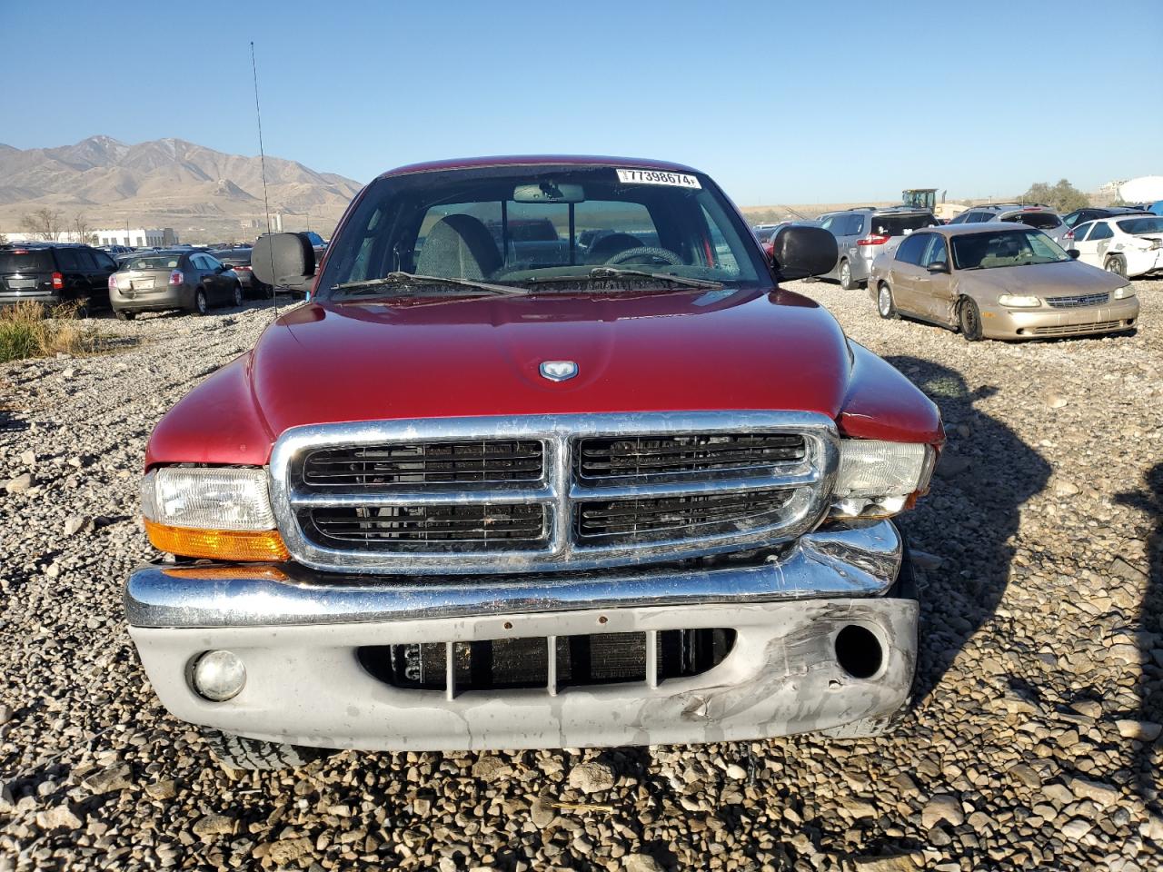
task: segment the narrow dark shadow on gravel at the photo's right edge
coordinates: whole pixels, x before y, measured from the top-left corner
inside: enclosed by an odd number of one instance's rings
[[[1121,493],[1115,501],[1121,506],[1144,512],[1154,524],[1147,537],[1147,584],[1139,608],[1136,632],[1140,646],[1140,673],[1135,685],[1139,710],[1125,715],[1136,721],[1163,723],[1163,463],[1148,470],[1141,491]],[[1128,739],[1132,778],[1140,799],[1160,813],[1158,775],[1154,750],[1155,741]]]

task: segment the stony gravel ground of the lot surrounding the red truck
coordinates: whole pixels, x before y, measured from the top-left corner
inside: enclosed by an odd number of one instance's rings
[[[1135,284],[1133,337],[976,345],[795,285],[949,429],[902,523],[918,706],[875,741],[223,772],[155,700],[121,585],[150,428],[270,313],[102,321],[116,352],[0,367],[0,870],[1157,869],[1163,280]]]

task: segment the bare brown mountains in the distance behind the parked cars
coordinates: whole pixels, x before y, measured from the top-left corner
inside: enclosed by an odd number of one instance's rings
[[[271,212],[286,229],[328,234],[362,187],[294,160],[266,158]],[[184,241],[257,235],[244,229],[264,217],[257,157],[226,155],[184,140],[127,145],[91,136],[76,145],[15,149],[0,143],[0,231],[20,216],[59,210],[66,222],[83,215],[90,227],[173,227]],[[308,217],[309,213],[309,217]]]

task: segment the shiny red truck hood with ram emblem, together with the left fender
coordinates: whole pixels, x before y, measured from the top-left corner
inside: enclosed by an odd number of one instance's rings
[[[548,381],[543,360],[573,360],[578,376]],[[179,402],[147,463],[262,464],[285,429],[334,421],[702,409],[836,419],[850,370],[832,316],[786,291],[312,303]]]

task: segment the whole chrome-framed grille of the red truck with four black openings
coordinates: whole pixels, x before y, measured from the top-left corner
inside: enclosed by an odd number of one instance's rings
[[[340,423],[287,430],[271,491],[314,569],[585,570],[793,539],[827,510],[836,458],[834,423],[812,413]]]

